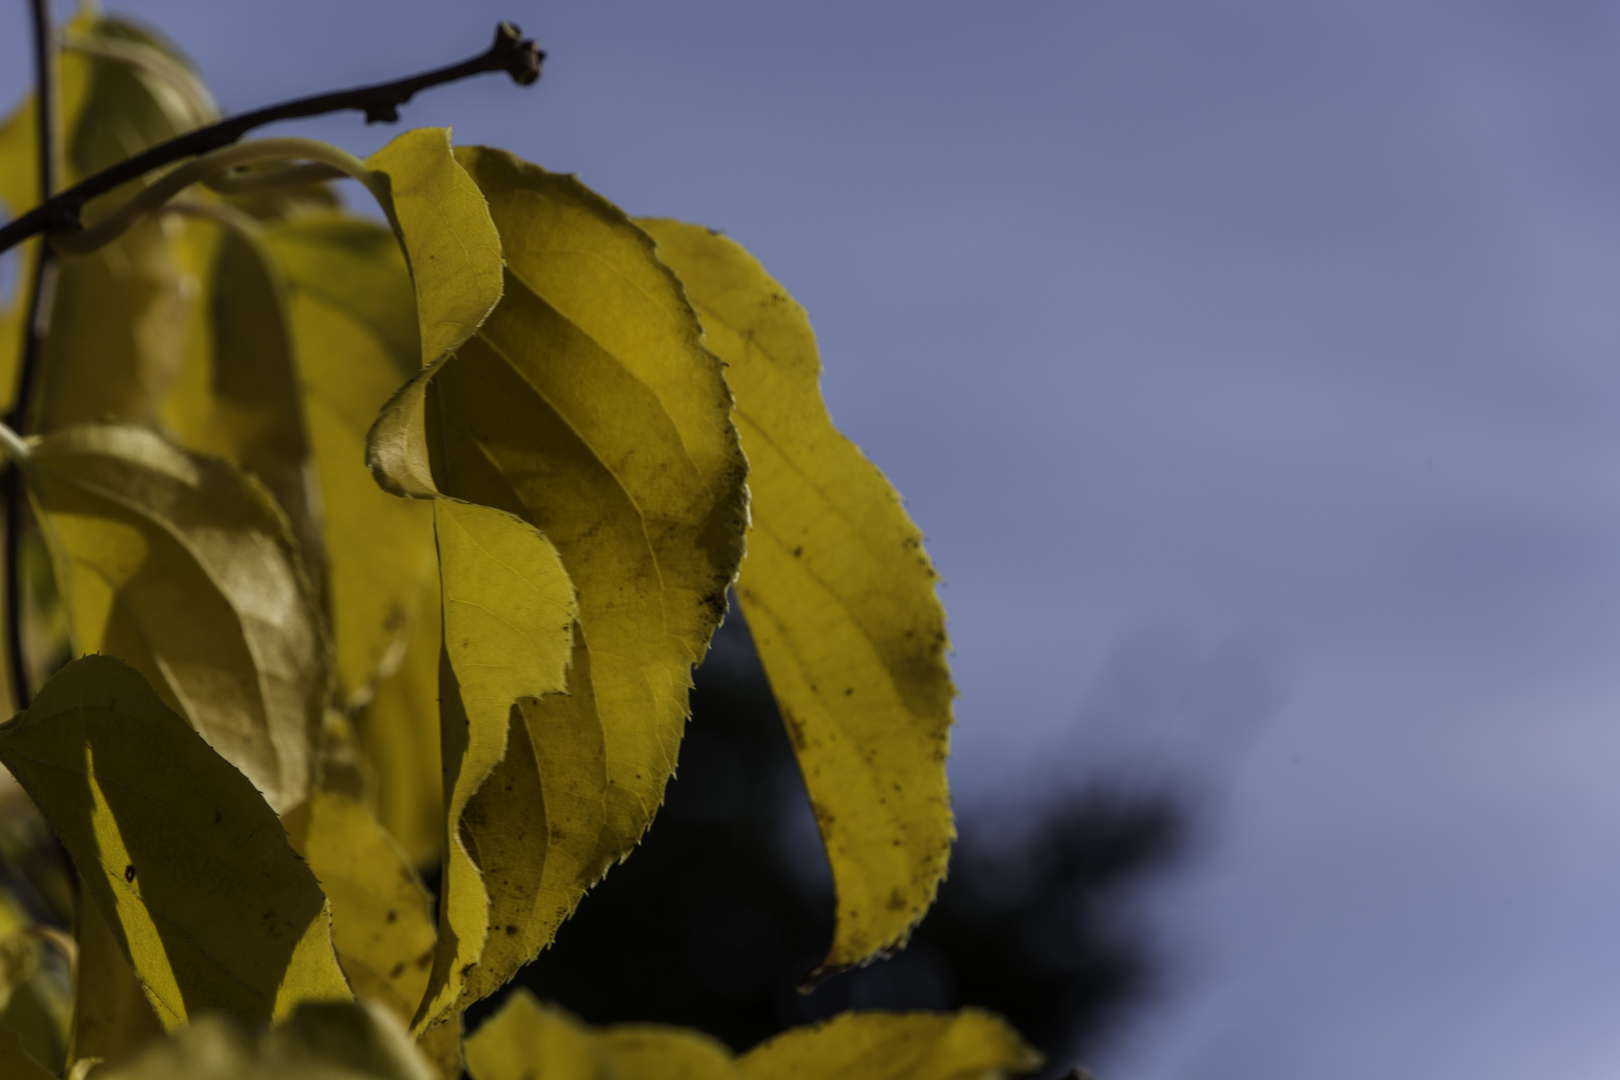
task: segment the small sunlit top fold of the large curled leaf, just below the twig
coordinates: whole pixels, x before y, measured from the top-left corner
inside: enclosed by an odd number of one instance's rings
[[[501,300],[501,236],[467,172],[450,155],[449,128],[418,128],[366,165],[389,188],[384,207],[416,283],[421,363],[454,353]]]

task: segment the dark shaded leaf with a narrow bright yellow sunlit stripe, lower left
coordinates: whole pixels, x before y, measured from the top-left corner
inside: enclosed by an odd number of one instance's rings
[[[0,725],[164,1027],[199,1009],[282,1020],[348,999],[330,907],[248,779],[105,656],[70,662]]]

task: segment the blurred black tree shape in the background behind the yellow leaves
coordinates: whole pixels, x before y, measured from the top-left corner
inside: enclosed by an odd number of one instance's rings
[[[1090,785],[957,827],[951,874],[907,949],[800,994],[831,941],[831,874],[765,674],[732,620],[698,670],[679,776],[651,831],[515,984],[593,1023],[697,1027],[737,1049],[846,1009],[982,1006],[1066,1067],[1155,989],[1128,899],[1181,852],[1181,803]],[[470,1031],[502,996],[473,1007]]]

